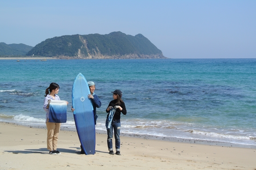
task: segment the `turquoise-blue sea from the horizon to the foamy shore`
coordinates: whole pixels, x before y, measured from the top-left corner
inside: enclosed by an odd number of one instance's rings
[[[0,121],[45,126],[44,92],[60,85],[67,100],[78,73],[96,83],[105,131],[111,91],[127,107],[121,132],[256,146],[256,59],[0,60]]]

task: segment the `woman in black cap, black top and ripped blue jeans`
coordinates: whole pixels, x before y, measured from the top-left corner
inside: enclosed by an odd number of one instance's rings
[[[116,112],[113,116],[113,120],[111,123],[110,128],[107,128],[108,132],[108,151],[110,155],[114,155],[113,147],[112,147],[112,136],[113,136],[113,129],[114,129],[114,135],[115,135],[115,144],[116,144],[116,155],[121,155],[120,154],[120,128],[121,128],[121,123],[120,123],[120,117],[121,113],[126,115],[126,108],[124,101],[122,100],[122,95],[123,93],[121,90],[116,89],[115,91],[111,92],[113,93],[113,99],[109,104],[108,108],[106,109],[106,112],[109,114],[109,111],[112,108],[116,108]],[[108,116],[107,116],[108,119]]]

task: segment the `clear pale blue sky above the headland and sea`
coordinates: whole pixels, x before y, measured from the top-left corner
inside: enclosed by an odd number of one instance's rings
[[[256,58],[256,0],[0,0],[0,42],[142,34],[168,58]]]

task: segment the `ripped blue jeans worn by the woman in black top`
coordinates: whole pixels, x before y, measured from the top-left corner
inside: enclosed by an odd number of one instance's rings
[[[108,141],[107,141],[108,151],[113,150],[113,145],[112,145],[113,129],[114,129],[115,142],[116,142],[116,151],[120,151],[120,128],[121,128],[120,120],[113,120],[110,128],[107,129],[107,132],[108,132]]]

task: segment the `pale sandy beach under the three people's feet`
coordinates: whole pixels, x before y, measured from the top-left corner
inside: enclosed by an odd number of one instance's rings
[[[256,149],[170,142],[121,136],[121,156],[109,155],[107,135],[96,134],[96,154],[80,155],[75,131],[61,131],[58,150],[49,155],[46,128],[0,123],[0,169],[256,170]]]

